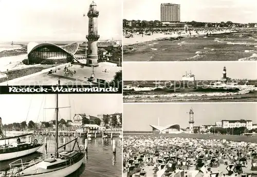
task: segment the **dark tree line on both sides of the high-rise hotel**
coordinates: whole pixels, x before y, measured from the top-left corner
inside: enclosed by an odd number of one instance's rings
[[[131,26],[128,25],[127,23],[131,22]],[[208,25],[208,27],[247,27],[249,26],[250,28],[254,27],[254,23],[248,23],[248,24],[240,24],[240,23],[233,23],[231,21],[228,22],[220,22],[220,23],[206,23],[206,22],[196,22],[196,21],[192,21],[192,22],[182,22],[182,23],[186,23],[187,25],[192,25],[192,27],[194,28],[203,28],[206,25]],[[163,24],[160,21],[140,21],[140,20],[132,20],[132,21],[128,21],[127,19],[123,19],[123,27],[161,27]],[[168,26],[168,25],[167,25]],[[164,26],[165,27],[165,26]]]

